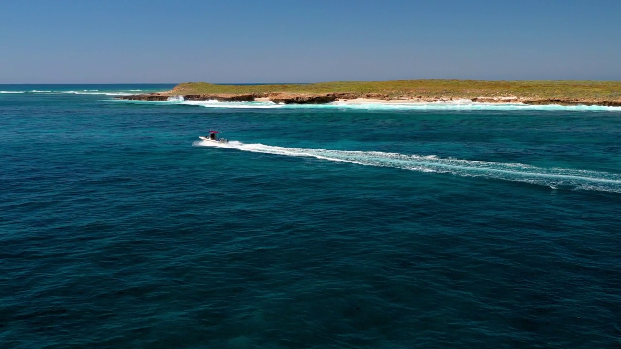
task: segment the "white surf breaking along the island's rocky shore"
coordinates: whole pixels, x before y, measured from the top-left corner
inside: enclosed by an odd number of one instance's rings
[[[453,102],[331,102],[326,104],[277,104],[274,102],[220,102],[184,101],[181,96],[173,96],[168,101],[125,101],[132,103],[186,104],[207,108],[244,109],[352,109],[376,111],[621,111],[621,107],[606,106],[561,106],[558,104],[531,105],[522,103],[480,103],[468,99]]]

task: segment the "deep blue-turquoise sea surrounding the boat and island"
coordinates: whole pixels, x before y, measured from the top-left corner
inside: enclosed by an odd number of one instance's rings
[[[171,87],[0,85],[0,347],[621,345],[621,108]]]

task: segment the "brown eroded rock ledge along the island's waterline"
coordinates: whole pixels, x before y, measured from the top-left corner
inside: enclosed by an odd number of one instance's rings
[[[525,97],[422,97],[400,96],[391,97],[381,93],[270,93],[270,94],[174,94],[168,93],[134,94],[132,96],[118,96],[117,99],[130,101],[168,101],[170,97],[181,96],[186,101],[221,101],[221,102],[252,102],[257,99],[284,104],[323,104],[334,101],[347,101],[350,99],[376,99],[382,101],[402,102],[451,102],[469,100],[483,103],[524,103],[524,104],[559,104],[561,106],[607,106],[619,107],[621,101],[597,101],[597,100],[574,100],[574,99],[536,99]]]

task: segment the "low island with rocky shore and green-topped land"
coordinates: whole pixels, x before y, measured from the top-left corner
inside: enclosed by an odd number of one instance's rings
[[[181,83],[170,91],[119,96],[132,101],[484,102],[621,106],[621,81],[394,80],[312,84]]]

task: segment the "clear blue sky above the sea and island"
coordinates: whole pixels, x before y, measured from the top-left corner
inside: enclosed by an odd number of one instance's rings
[[[0,0],[0,83],[621,80],[621,0]]]

